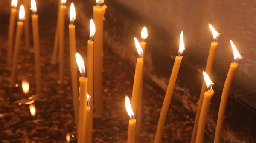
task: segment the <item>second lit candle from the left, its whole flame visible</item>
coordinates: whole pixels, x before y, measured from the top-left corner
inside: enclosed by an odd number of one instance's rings
[[[14,46],[14,56],[12,60],[12,75],[11,75],[11,81],[10,81],[10,87],[13,87],[16,80],[16,70],[17,70],[17,62],[18,62],[18,56],[20,53],[20,39],[22,35],[23,30],[23,20],[25,18],[25,9],[24,6],[20,6],[20,12],[19,12],[19,21],[17,22],[17,30],[16,30],[16,38],[15,38],[15,46]]]

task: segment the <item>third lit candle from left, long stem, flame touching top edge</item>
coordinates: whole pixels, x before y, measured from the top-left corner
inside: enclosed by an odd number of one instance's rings
[[[36,93],[41,97],[41,64],[40,64],[40,42],[39,42],[39,28],[38,28],[38,14],[35,0],[31,0],[32,14],[32,29],[35,52],[35,78],[36,78]]]

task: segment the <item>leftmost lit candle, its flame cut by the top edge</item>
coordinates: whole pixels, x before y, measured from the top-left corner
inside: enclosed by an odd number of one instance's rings
[[[13,51],[13,39],[14,39],[14,27],[17,14],[18,0],[12,0],[11,2],[11,14],[8,31],[8,50],[7,50],[7,67],[12,66],[12,51]]]

